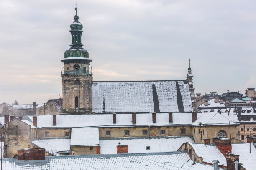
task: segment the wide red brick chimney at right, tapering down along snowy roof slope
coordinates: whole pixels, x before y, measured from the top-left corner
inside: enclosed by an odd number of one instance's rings
[[[226,157],[228,152],[231,153],[231,139],[230,138],[212,138],[213,143],[217,146],[220,152]]]

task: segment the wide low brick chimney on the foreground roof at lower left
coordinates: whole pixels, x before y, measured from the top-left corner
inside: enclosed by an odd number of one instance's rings
[[[45,149],[18,150],[18,160],[45,160]]]

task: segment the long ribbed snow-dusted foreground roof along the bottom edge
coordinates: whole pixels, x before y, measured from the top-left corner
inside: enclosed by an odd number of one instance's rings
[[[186,151],[165,153],[125,153],[115,155],[47,156],[44,161],[22,162],[3,159],[5,170],[212,170],[211,165],[196,163]]]

